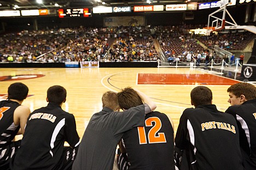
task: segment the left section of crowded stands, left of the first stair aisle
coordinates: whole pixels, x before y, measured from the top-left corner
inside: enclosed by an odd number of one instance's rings
[[[2,62],[73,62],[98,60],[109,49],[110,29],[60,28],[23,31],[1,37]]]

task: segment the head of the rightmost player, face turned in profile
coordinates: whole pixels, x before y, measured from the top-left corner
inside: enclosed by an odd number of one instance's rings
[[[236,83],[227,90],[230,105],[241,105],[247,100],[256,99],[256,87],[249,83]]]

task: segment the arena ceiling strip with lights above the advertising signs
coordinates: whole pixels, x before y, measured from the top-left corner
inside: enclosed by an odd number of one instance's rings
[[[187,3],[185,0],[148,0],[150,5],[154,4],[179,4]],[[211,2],[214,0],[191,0],[190,2]],[[216,0],[215,0],[216,1]],[[37,3],[37,0],[0,0],[0,10],[14,9],[18,5],[20,9],[42,9],[42,8],[77,8],[77,7],[95,7],[105,6],[133,6],[133,5],[148,5],[147,0],[42,0],[42,4]],[[55,4],[60,6],[55,6]]]

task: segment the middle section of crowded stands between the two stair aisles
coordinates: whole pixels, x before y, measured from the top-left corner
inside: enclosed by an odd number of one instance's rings
[[[118,38],[108,55],[108,60],[115,62],[156,61],[152,35],[147,27],[126,27],[118,29]]]

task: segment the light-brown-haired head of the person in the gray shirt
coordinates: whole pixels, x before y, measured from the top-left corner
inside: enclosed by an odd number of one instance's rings
[[[102,95],[101,100],[102,100],[103,107],[108,107],[113,111],[119,110],[117,93],[108,91]]]

